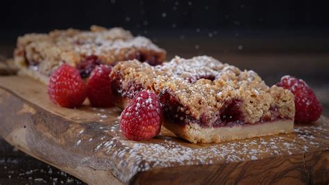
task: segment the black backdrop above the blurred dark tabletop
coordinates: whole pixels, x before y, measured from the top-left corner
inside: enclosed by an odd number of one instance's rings
[[[0,33],[1,41],[11,43],[24,33],[99,24],[155,40],[168,35],[328,38],[328,8],[329,1],[14,0],[1,1]]]

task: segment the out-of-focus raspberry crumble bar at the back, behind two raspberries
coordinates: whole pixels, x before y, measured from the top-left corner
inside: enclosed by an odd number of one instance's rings
[[[17,40],[15,63],[21,74],[28,74],[47,83],[58,65],[77,67],[88,77],[99,63],[115,65],[119,61],[138,59],[150,65],[161,64],[166,52],[151,40],[133,35],[121,28],[92,26],[90,31],[56,30],[49,34],[31,33]]]

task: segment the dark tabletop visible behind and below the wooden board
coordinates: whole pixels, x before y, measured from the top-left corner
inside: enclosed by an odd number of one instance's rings
[[[200,43],[199,40],[193,42],[192,46],[186,42],[180,42],[179,46],[170,45],[169,42],[162,42],[160,45],[169,51],[169,58],[174,54],[184,57],[208,54],[221,61],[233,63],[240,68],[253,69],[270,85],[278,81],[283,74],[293,74],[296,77],[301,77],[314,89],[323,104],[323,115],[328,116],[329,51],[321,49],[319,40],[309,40],[313,43],[311,47],[310,45],[303,47],[303,40],[299,40],[297,44],[291,40],[287,45],[284,41],[276,41],[278,44],[274,46],[260,40],[256,42],[256,45],[253,45],[253,40],[251,40],[244,42],[242,51],[237,50],[237,45],[241,42],[232,43],[230,41],[227,41],[224,45],[212,42],[205,45],[205,43]],[[194,48],[196,44],[200,45],[200,49]],[[326,45],[326,48],[328,47],[328,42],[322,44]],[[215,47],[217,45],[220,46]],[[264,45],[265,49],[262,49]],[[11,56],[14,46],[0,45],[0,48],[0,55],[8,58]],[[1,67],[5,66],[1,65],[0,63],[0,71]],[[6,70],[1,72],[2,74],[10,74]],[[49,183],[56,180],[57,183],[81,183],[75,177],[71,177],[57,168],[15,150],[2,138],[0,138],[0,170],[0,184],[30,184],[44,183],[44,181]]]

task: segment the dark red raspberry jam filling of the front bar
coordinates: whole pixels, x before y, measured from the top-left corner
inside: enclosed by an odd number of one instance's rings
[[[142,85],[137,84],[134,81],[130,81],[126,88],[121,87],[119,77],[112,81],[112,92],[117,97],[133,99],[133,97],[135,97],[135,95],[142,89],[144,89]],[[190,114],[189,108],[180,104],[178,99],[176,99],[176,97],[169,92],[169,90],[164,90],[160,93],[158,92],[158,96],[162,104],[165,117],[167,117],[171,122],[180,124],[181,126],[184,126],[189,122],[199,124],[203,128],[234,127],[251,124],[246,122],[244,119],[244,113],[240,110],[242,101],[239,99],[230,99],[224,102],[223,106],[217,111],[217,113],[214,113],[214,115],[207,116],[202,114],[200,119],[196,119]],[[271,106],[269,111],[271,112],[271,116],[264,116],[259,122],[255,122],[253,124],[274,122],[276,120],[287,120],[287,118],[280,117],[276,106]]]

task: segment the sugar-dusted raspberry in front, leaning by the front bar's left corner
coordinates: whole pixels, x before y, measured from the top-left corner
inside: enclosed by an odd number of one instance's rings
[[[160,133],[162,108],[155,93],[142,90],[120,116],[122,134],[130,140],[147,140]]]

